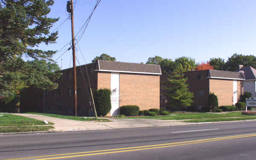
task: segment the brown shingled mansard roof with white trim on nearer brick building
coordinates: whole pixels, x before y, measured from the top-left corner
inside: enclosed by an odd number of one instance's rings
[[[140,64],[102,60],[98,60],[96,62],[95,70],[104,72],[140,73],[156,75],[162,74],[160,65],[156,64]]]

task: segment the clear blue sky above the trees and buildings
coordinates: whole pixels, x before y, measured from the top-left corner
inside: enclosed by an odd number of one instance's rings
[[[76,2],[76,0],[74,0]],[[77,0],[75,34],[96,0]],[[55,0],[48,17],[60,17],[52,30],[67,17],[66,1]],[[71,20],[58,28],[56,44],[41,49],[61,49],[71,41]],[[140,63],[155,55],[163,58],[188,56],[196,62],[224,58],[234,53],[256,53],[255,0],[102,0],[79,41],[85,61],[106,53],[117,61]],[[53,59],[58,58],[57,53]],[[72,67],[72,51],[57,60],[62,69]],[[77,63],[78,65],[78,63]]]

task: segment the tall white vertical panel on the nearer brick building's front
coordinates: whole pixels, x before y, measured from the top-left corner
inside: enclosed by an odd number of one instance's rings
[[[119,114],[119,73],[111,73],[111,111],[110,115]]]

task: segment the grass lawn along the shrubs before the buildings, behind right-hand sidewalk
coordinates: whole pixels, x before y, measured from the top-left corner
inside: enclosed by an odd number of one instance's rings
[[[163,119],[163,120],[182,120],[182,119],[212,119],[225,117],[248,117],[248,115],[241,115],[241,112],[230,113],[172,113],[176,116],[134,116],[123,117],[122,119]],[[256,119],[255,115],[253,118]],[[212,121],[210,121],[212,122]]]

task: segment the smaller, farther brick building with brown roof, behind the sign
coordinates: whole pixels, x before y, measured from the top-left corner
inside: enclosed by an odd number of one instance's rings
[[[244,76],[239,72],[200,70],[185,72],[189,91],[194,93],[192,106],[208,106],[209,93],[218,97],[218,105],[235,105],[243,93]]]

